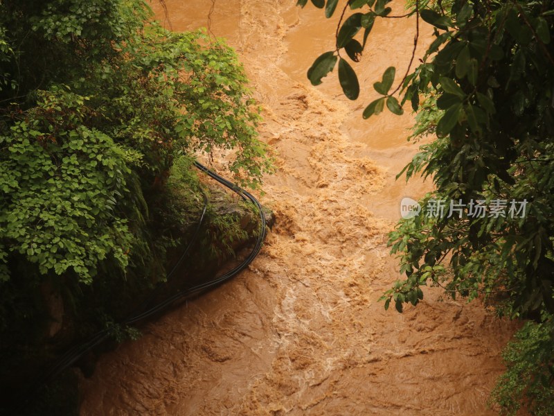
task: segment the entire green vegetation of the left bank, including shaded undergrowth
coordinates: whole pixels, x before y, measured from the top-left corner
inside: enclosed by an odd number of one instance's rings
[[[194,155],[230,150],[260,186],[259,121],[235,52],[164,30],[143,0],[0,0],[0,381],[166,279],[203,206]]]

